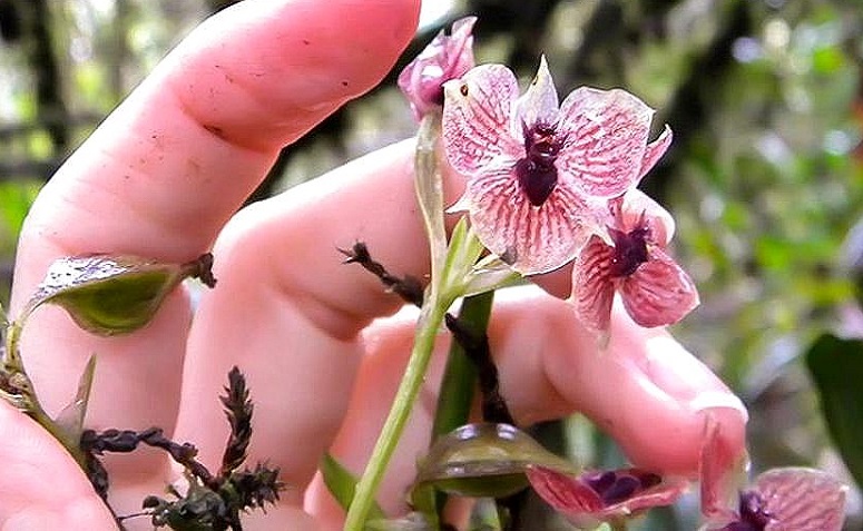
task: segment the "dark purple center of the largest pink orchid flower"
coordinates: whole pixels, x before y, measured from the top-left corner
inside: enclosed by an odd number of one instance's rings
[[[526,155],[516,164],[516,175],[530,204],[541,206],[558,183],[555,159],[560,153],[561,139],[556,136],[553,125],[522,124],[522,128]]]

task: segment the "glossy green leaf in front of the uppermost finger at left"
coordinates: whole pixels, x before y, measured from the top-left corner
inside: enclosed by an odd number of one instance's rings
[[[81,328],[98,335],[128,334],[147,325],[165,297],[186,277],[213,286],[213,256],[164,264],[135,256],[76,256],[55,260],[18,318],[42,304],[63,307]]]

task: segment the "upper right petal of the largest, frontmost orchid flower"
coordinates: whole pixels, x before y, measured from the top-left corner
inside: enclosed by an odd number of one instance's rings
[[[560,107],[557,167],[568,186],[615,197],[643,176],[654,109],[625,90],[581,87]]]

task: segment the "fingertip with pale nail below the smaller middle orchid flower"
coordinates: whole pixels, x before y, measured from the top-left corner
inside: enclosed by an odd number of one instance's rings
[[[745,453],[743,402],[665,328],[643,328],[616,308],[609,355],[620,363],[621,422],[608,426],[639,466],[695,478],[705,422],[722,426],[730,453]]]

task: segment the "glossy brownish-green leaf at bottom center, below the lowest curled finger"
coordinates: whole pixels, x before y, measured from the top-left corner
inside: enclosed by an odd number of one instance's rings
[[[468,424],[434,442],[420,464],[414,492],[433,485],[458,495],[503,498],[528,485],[524,470],[530,464],[577,473],[571,463],[514,426]]]

